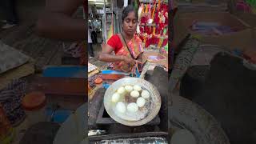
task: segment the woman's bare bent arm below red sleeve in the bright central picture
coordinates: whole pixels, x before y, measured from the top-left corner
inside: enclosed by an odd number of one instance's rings
[[[112,55],[111,53],[114,51],[114,49],[109,46],[106,45],[106,47],[104,47],[102,49],[102,54],[99,55],[99,60],[103,61],[103,62],[127,62],[130,63],[132,65],[134,65],[135,61],[134,59],[130,58],[130,57],[126,57],[126,56],[121,56],[121,55]]]

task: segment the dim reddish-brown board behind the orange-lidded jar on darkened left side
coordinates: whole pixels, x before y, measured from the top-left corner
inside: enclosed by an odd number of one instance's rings
[[[46,94],[47,103],[64,109],[76,110],[88,101],[85,78],[49,78],[34,77],[30,79],[27,92],[41,91]]]

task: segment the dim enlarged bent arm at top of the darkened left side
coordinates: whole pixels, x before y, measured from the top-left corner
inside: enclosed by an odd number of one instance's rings
[[[36,32],[46,38],[79,41],[86,39],[86,21],[72,14],[83,0],[46,0],[46,9],[38,19]]]

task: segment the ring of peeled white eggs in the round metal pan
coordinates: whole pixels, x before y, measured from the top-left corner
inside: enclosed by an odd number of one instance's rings
[[[130,93],[130,97],[136,98],[136,102],[131,102],[127,106],[124,102],[121,102],[122,96],[126,93]],[[145,106],[147,98],[150,98],[150,93],[147,90],[142,90],[141,86],[127,85],[119,87],[117,92],[112,95],[111,101],[117,103],[116,110],[122,114],[126,113],[126,110],[130,113],[136,113],[140,107]]]

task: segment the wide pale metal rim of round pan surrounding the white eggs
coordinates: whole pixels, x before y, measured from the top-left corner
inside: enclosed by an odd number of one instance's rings
[[[150,92],[150,97],[151,97],[150,112],[146,116],[146,118],[142,118],[139,121],[126,121],[122,118],[119,118],[114,113],[114,110],[111,107],[112,106],[111,96],[115,93],[116,90],[118,90],[120,86],[126,86],[126,85],[139,85],[139,86],[145,87]],[[114,119],[114,121],[126,126],[142,126],[142,125],[145,125],[147,122],[150,122],[158,114],[161,108],[161,97],[157,88],[154,85],[152,85],[150,82],[147,82],[142,78],[122,78],[114,82],[106,90],[106,93],[104,95],[104,106],[105,106],[106,112],[110,115],[111,118]]]

